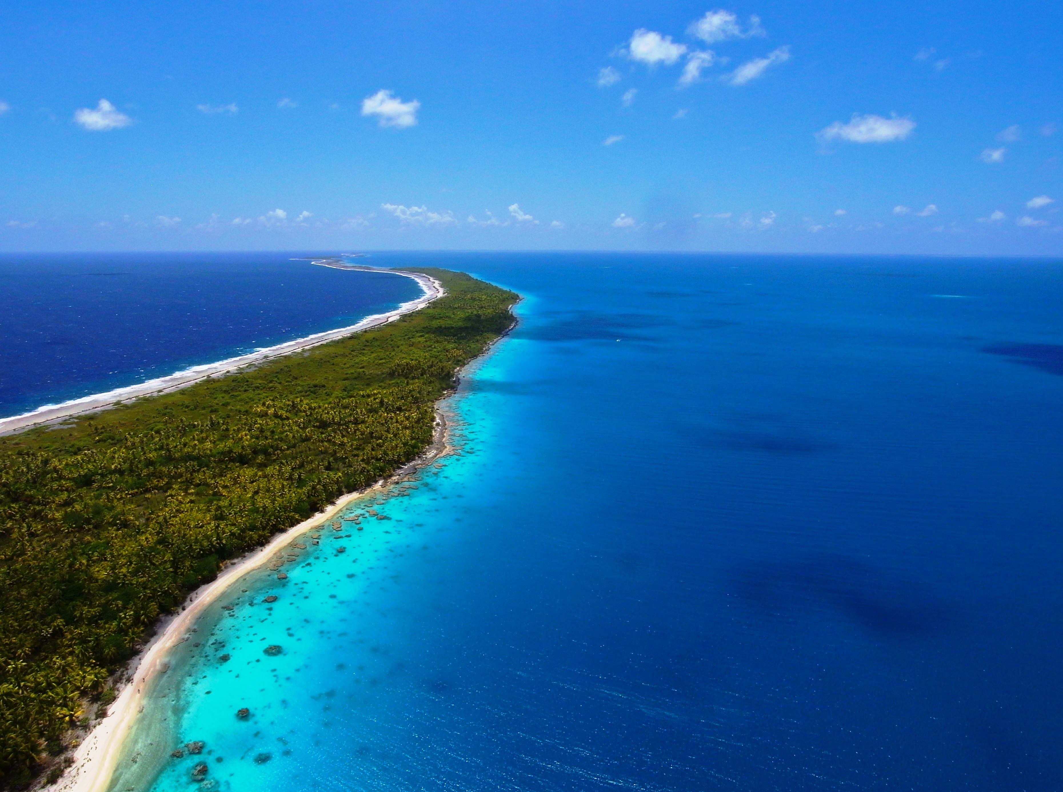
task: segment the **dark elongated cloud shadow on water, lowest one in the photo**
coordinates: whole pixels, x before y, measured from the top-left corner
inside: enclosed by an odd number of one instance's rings
[[[955,608],[926,586],[866,561],[824,554],[736,568],[733,592],[765,616],[828,606],[881,636],[938,635],[955,622]]]

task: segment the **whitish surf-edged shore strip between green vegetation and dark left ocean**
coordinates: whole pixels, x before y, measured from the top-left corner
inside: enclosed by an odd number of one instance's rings
[[[337,267],[337,269],[349,268]],[[357,324],[352,324],[349,327],[339,327],[337,330],[325,331],[324,333],[315,333],[311,336],[297,338],[293,341],[279,343],[275,347],[266,347],[265,349],[256,350],[247,355],[230,357],[224,360],[208,363],[202,366],[192,366],[191,368],[174,372],[168,376],[149,380],[148,382],[140,383],[138,385],[129,385],[124,388],[108,390],[105,393],[95,393],[80,399],[72,399],[69,402],[63,402],[62,404],[47,404],[30,412],[23,412],[20,416],[3,418],[0,419],[0,436],[13,435],[18,432],[24,432],[26,429],[33,428],[34,426],[57,423],[68,418],[83,416],[88,412],[96,412],[101,409],[113,407],[118,402],[129,401],[130,399],[168,393],[180,388],[186,388],[189,385],[193,385],[202,380],[231,374],[244,368],[246,366],[272,360],[275,357],[290,355],[292,352],[301,352],[302,350],[317,347],[320,343],[335,341],[337,338],[343,338],[345,336],[353,335],[354,333],[370,330],[371,327],[378,327],[382,324],[387,324],[401,316],[419,310],[446,293],[446,289],[443,288],[443,285],[439,283],[439,281],[431,277],[429,275],[423,275],[420,272],[377,270],[370,267],[350,267],[350,269],[369,270],[373,272],[390,272],[395,275],[412,277],[421,285],[421,288],[424,289],[424,294],[416,300],[403,303],[398,308],[388,311],[387,314],[368,316]]]

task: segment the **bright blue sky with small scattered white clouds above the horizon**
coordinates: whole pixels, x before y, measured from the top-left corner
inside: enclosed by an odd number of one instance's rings
[[[0,249],[1063,255],[1063,4],[36,2]]]

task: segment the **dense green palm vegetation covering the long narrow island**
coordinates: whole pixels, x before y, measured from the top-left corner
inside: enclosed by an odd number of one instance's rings
[[[448,296],[255,370],[0,438],[0,776],[22,783],[219,563],[415,458],[518,296]],[[109,693],[113,695],[113,693]],[[105,695],[105,702],[109,701]]]

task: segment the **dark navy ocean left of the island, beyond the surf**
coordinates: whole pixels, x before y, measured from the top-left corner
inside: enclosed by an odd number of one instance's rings
[[[0,418],[356,323],[411,279],[299,253],[0,254]]]

